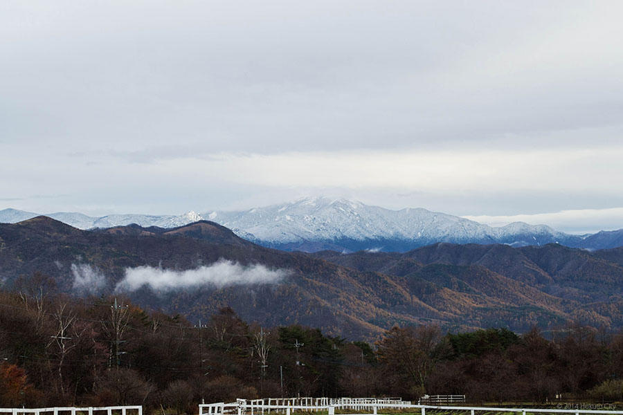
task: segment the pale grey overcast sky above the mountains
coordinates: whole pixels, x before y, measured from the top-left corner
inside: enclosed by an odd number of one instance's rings
[[[621,1],[0,2],[0,209],[623,228]],[[516,216],[521,215],[521,216]]]

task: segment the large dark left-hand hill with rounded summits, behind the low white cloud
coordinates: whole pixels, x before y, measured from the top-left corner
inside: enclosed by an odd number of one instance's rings
[[[20,275],[41,272],[54,277],[60,291],[72,291],[75,268],[88,265],[112,291],[127,268],[192,270],[228,259],[287,270],[289,276],[282,284],[198,286],[158,293],[141,288],[129,295],[141,304],[191,317],[208,317],[222,306],[232,306],[246,320],[298,322],[354,338],[374,338],[395,322],[417,322],[417,317],[385,309],[386,303],[406,302],[408,297],[391,277],[256,246],[208,221],[175,230],[129,226],[81,231],[37,218],[0,225],[0,247],[0,276],[8,285]]]

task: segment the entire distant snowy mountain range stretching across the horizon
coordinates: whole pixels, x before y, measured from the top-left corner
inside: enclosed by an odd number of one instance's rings
[[[0,211],[0,222],[15,223],[37,214]],[[237,212],[188,212],[180,216],[114,214],[91,217],[80,213],[46,214],[80,229],[138,225],[174,228],[209,219],[238,236],[280,250],[373,250],[406,252],[432,243],[503,243],[509,246],[543,246],[559,243],[572,248],[598,250],[623,246],[623,230],[574,235],[546,225],[523,222],[492,227],[459,216],[421,208],[388,210],[344,199],[314,198]]]

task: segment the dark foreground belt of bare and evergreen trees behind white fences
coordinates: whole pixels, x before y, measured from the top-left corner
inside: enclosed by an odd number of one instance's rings
[[[623,336],[575,326],[443,334],[394,327],[374,344],[302,326],[262,328],[222,308],[209,321],[122,297],[0,291],[0,407],[206,403],[279,396],[465,394],[471,402],[623,399]]]

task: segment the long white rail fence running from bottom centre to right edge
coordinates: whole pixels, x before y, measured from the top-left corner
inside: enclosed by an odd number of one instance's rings
[[[328,403],[328,405],[327,405]],[[586,405],[588,406],[588,405]],[[588,406],[590,407],[590,406]],[[515,412],[517,415],[526,414],[609,414],[623,415],[623,411],[607,411],[596,409],[584,409],[575,407],[574,409],[545,409],[545,408],[503,408],[503,407],[467,407],[467,406],[441,406],[441,405],[413,405],[395,398],[271,398],[244,400],[239,399],[233,403],[213,403],[199,405],[199,415],[264,415],[271,411],[281,414],[291,415],[291,412],[319,412],[326,411],[329,415],[335,415],[336,409],[355,409],[365,411],[367,414],[379,414],[379,409],[416,409],[422,415],[426,415],[426,410],[454,411],[456,415],[476,415],[476,412]],[[391,411],[387,411],[391,412]]]

